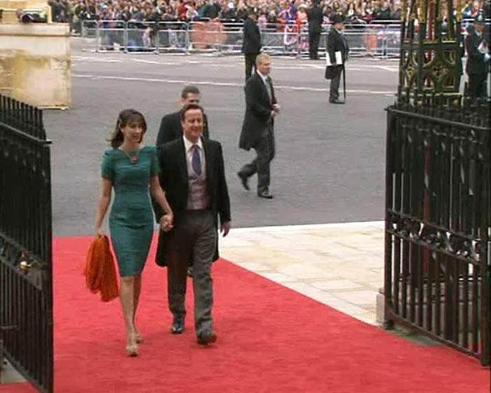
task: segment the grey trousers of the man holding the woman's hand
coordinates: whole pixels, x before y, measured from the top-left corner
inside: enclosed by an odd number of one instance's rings
[[[167,288],[170,312],[184,317],[186,309],[187,262],[194,257],[194,325],[196,335],[213,329],[213,279],[211,263],[216,251],[217,229],[209,210],[187,211],[169,233]]]

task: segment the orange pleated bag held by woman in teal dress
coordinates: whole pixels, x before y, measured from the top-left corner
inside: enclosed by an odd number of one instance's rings
[[[90,243],[83,272],[87,288],[92,293],[99,292],[100,300],[109,302],[118,297],[116,267],[106,235],[96,236]]]

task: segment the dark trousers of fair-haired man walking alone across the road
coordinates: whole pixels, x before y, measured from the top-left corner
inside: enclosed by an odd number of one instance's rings
[[[274,132],[272,127],[268,127],[267,131],[262,135],[262,138],[253,146],[256,151],[256,158],[245,164],[240,173],[250,178],[257,173],[257,192],[262,192],[268,189],[271,180],[269,166],[274,159]]]

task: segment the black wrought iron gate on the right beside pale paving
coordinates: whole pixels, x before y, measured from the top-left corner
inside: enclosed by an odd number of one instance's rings
[[[412,102],[388,109],[386,325],[489,364],[491,102]]]

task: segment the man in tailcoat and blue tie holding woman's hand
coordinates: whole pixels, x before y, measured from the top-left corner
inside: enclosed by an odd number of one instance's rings
[[[167,266],[168,302],[173,314],[171,333],[184,331],[187,261],[194,258],[194,325],[198,343],[217,340],[211,309],[211,262],[218,258],[218,225],[230,229],[230,201],[222,146],[201,138],[203,109],[189,104],[181,110],[182,138],[159,148],[160,181],[174,213],[174,228],[159,235],[156,263]],[[162,212],[156,208],[156,216]]]

